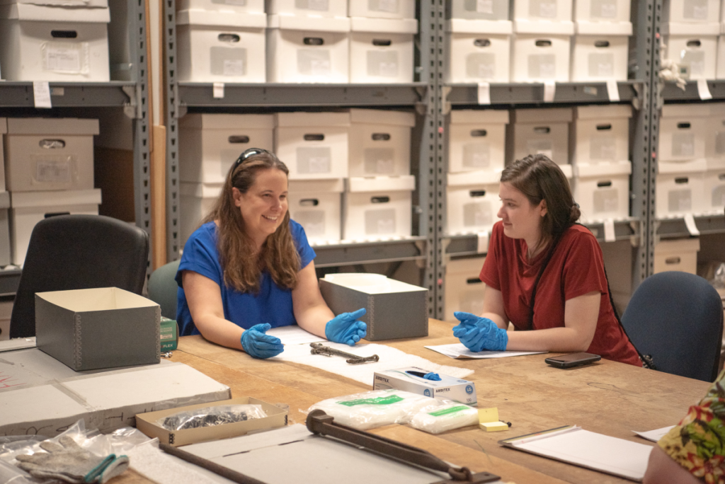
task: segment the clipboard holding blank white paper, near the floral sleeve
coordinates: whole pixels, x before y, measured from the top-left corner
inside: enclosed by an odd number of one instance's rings
[[[564,425],[505,438],[500,446],[515,448],[579,467],[642,482],[652,446]]]

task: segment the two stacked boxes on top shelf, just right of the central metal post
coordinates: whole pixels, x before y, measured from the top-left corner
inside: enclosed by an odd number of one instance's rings
[[[446,24],[449,83],[508,83],[512,24],[508,0],[452,0]]]

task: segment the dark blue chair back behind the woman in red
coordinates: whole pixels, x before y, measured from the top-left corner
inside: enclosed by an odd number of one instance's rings
[[[718,375],[723,306],[707,280],[688,272],[660,272],[634,291],[622,325],[657,370],[712,382]]]

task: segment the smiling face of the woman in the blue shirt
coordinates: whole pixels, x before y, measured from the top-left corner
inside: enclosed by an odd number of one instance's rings
[[[287,213],[287,175],[275,168],[259,170],[247,193],[232,188],[244,228],[257,248],[275,233]]]

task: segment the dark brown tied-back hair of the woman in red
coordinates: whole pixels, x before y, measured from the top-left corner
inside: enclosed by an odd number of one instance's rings
[[[534,206],[546,201],[547,212],[542,217],[542,236],[536,249],[556,240],[581,216],[566,176],[544,154],[517,159],[503,170],[501,181],[521,191]]]

